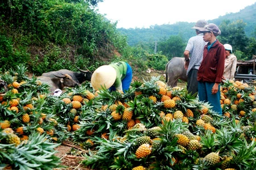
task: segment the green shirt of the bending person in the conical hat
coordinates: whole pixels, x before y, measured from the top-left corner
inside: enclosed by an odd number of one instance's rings
[[[115,78],[114,86],[117,90],[123,90],[122,89],[122,80],[126,76],[127,72],[127,64],[123,61],[119,61],[117,63],[111,63],[109,64],[111,67],[115,69],[117,72],[117,77]]]

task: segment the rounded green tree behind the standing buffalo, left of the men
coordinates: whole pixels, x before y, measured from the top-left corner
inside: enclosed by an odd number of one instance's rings
[[[179,35],[171,35],[169,39],[160,41],[158,44],[158,51],[167,56],[168,60],[172,57],[181,57],[185,49],[185,43]]]

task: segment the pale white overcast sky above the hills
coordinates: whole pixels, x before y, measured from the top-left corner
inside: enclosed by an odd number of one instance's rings
[[[117,28],[149,28],[176,22],[197,22],[237,13],[256,0],[104,0],[98,13]]]

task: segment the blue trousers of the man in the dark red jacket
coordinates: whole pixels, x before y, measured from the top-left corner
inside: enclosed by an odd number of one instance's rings
[[[220,105],[220,85],[218,85],[218,92],[212,94],[212,87],[214,82],[202,82],[198,81],[198,96],[199,101],[208,102],[212,107],[212,110],[216,111],[219,115],[222,115]]]

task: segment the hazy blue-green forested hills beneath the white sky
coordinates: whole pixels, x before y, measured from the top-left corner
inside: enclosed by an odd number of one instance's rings
[[[238,13],[230,13],[224,16],[219,16],[216,19],[208,20],[208,22],[220,25],[224,20],[230,20],[230,22],[242,20],[246,23],[245,34],[249,37],[255,36],[256,3],[254,3],[254,5],[245,7],[245,9],[242,9]],[[136,45],[142,42],[154,42],[168,38],[171,35],[180,35],[184,41],[187,42],[191,36],[195,35],[195,31],[191,29],[191,27],[194,25],[195,23],[177,22],[175,24],[163,24],[160,26],[155,25],[151,26],[150,28],[118,28],[118,30],[121,32],[121,34],[127,36],[127,42],[129,45]]]

